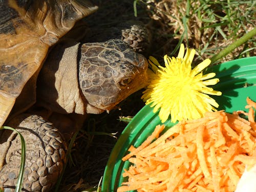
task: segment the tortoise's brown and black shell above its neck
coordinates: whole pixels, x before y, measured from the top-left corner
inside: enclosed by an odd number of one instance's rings
[[[0,0],[0,127],[50,46],[97,10],[82,0]]]

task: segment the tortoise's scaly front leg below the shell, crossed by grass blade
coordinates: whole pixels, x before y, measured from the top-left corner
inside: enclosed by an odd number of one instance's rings
[[[52,123],[37,115],[19,115],[9,126],[20,132],[26,141],[23,191],[49,191],[66,161],[65,141]],[[0,170],[0,186],[5,191],[14,191],[17,183],[20,146],[19,136],[9,130],[0,138],[0,159],[4,164]]]

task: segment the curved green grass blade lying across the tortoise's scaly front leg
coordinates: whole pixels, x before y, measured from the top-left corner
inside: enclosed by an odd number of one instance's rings
[[[14,131],[20,137],[20,141],[21,141],[21,144],[22,144],[22,154],[21,154],[22,157],[21,157],[21,160],[20,160],[20,168],[19,168],[19,174],[18,174],[18,181],[17,181],[16,188],[15,188],[15,192],[20,192],[20,191],[22,191],[22,183],[23,183],[23,176],[24,176],[25,162],[26,162],[25,161],[26,160],[26,143],[25,143],[25,139],[22,136],[22,134],[20,134],[17,130],[13,129],[10,126],[2,126],[1,129]]]

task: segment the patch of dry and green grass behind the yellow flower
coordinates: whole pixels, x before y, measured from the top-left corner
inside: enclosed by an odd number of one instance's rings
[[[164,39],[155,54],[174,54],[172,51],[182,39],[195,48],[199,59],[209,58],[236,41],[255,27],[255,2],[252,1],[137,1],[147,5],[156,42]],[[255,38],[228,54],[222,61],[256,55]],[[154,54],[153,53],[153,54]]]

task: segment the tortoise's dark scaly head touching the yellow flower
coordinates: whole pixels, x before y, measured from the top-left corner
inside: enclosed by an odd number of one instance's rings
[[[79,84],[94,108],[111,110],[147,83],[147,60],[122,40],[81,46]]]

